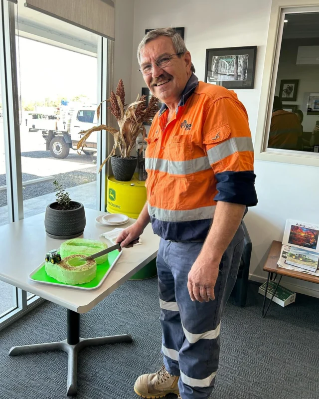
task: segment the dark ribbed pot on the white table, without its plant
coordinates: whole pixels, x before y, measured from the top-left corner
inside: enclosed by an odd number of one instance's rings
[[[45,210],[44,226],[46,234],[51,238],[68,239],[81,235],[86,224],[84,206],[81,202],[71,201],[80,205],[76,209],[54,209],[57,202],[50,203]]]

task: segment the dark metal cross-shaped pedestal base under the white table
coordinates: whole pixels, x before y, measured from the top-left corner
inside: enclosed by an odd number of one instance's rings
[[[132,342],[130,334],[111,337],[80,338],[80,315],[68,310],[68,338],[60,342],[46,344],[14,346],[10,349],[10,356],[25,355],[28,353],[64,351],[69,355],[67,396],[77,394],[77,363],[78,353],[87,346],[117,344]]]

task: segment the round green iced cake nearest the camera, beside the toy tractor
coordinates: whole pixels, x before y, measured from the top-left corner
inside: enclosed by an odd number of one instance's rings
[[[96,261],[84,260],[86,255],[73,254],[52,263],[45,261],[45,271],[55,280],[66,284],[83,284],[96,276]]]

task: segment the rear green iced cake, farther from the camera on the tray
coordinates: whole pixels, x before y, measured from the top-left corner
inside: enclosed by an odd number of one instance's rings
[[[65,258],[69,255],[85,255],[91,256],[94,253],[100,252],[106,249],[108,246],[96,240],[87,240],[84,238],[72,238],[63,242],[60,246],[60,255]],[[95,259],[98,265],[106,262],[108,259],[108,254],[99,256]]]

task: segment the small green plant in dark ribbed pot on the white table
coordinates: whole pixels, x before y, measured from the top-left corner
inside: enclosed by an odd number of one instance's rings
[[[72,201],[69,193],[55,180],[57,191],[55,202],[46,207],[44,225],[46,234],[51,238],[67,239],[81,235],[86,224],[84,206]]]

